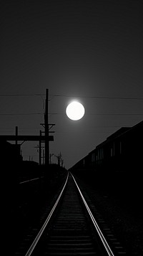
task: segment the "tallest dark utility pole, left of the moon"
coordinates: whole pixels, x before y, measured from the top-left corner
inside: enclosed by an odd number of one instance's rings
[[[45,128],[45,165],[49,166],[49,119],[48,119],[48,108],[49,108],[49,90],[46,89],[46,103],[44,113],[44,128]]]

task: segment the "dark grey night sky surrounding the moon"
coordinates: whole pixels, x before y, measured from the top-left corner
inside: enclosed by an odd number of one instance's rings
[[[46,88],[50,151],[61,151],[66,168],[143,120],[143,1],[1,3],[1,135],[16,125],[19,135],[44,130]],[[72,99],[84,105],[81,120],[66,117]],[[24,160],[39,161],[36,145],[22,144]]]

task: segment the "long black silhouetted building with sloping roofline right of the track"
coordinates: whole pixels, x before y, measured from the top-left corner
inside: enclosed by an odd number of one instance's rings
[[[100,143],[71,169],[129,171],[142,168],[143,121],[132,128],[122,127]]]

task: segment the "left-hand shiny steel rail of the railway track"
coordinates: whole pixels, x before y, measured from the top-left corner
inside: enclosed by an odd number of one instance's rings
[[[54,213],[54,210],[56,209],[57,204],[59,203],[59,200],[61,198],[61,195],[64,191],[64,188],[66,186],[67,180],[69,178],[69,173],[67,174],[66,182],[63,186],[63,189],[61,190],[61,193],[59,194],[58,199],[56,200],[56,203],[54,204],[54,207],[51,209],[51,212],[49,213],[48,217],[46,218],[46,221],[44,222],[43,226],[41,227],[39,233],[36,235],[34,242],[32,242],[31,246],[29,247],[29,250],[26,252],[25,256],[30,256],[31,253],[34,251],[34,248],[36,247],[37,242],[39,242],[39,239],[41,237],[41,234],[43,234],[44,229],[46,228],[46,225],[48,224],[49,220],[51,219],[52,214]]]

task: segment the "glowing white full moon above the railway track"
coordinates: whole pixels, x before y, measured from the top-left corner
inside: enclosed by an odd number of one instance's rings
[[[66,115],[71,120],[81,119],[84,116],[84,113],[85,113],[84,106],[77,101],[73,101],[66,108]]]

